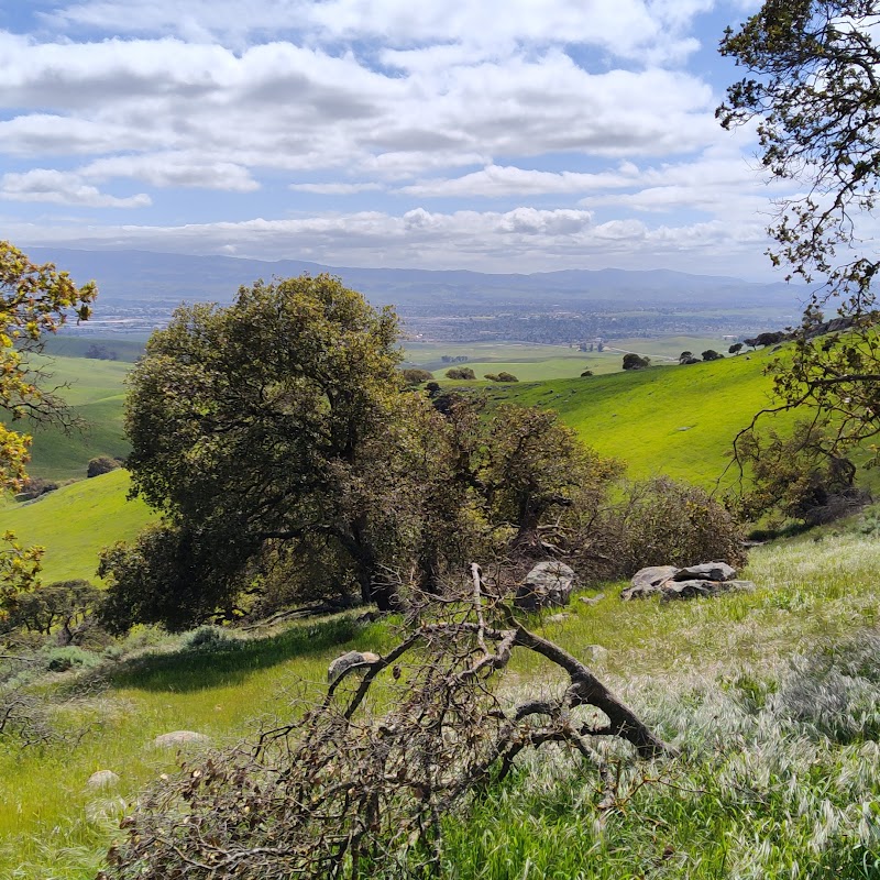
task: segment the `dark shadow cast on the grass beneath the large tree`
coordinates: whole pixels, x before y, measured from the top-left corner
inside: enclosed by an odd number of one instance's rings
[[[175,692],[238,684],[258,670],[351,641],[358,631],[354,619],[343,617],[294,626],[274,636],[243,639],[212,650],[184,648],[173,653],[143,654],[120,662],[108,681],[116,688]]]

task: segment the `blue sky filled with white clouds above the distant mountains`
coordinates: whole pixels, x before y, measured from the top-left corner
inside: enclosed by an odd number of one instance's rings
[[[752,0],[0,0],[0,238],[773,278]]]

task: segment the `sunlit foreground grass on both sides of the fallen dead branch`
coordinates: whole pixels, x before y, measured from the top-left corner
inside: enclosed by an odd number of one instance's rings
[[[839,741],[815,717],[794,717],[780,694],[799,669],[793,658],[877,627],[878,570],[877,537],[826,530],[756,549],[751,594],[625,604],[609,587],[595,605],[575,601],[561,624],[536,619],[581,658],[593,656],[591,645],[604,647],[607,654],[591,661],[597,674],[683,757],[624,767],[644,772],[647,784],[604,817],[593,806],[592,772],[573,772],[562,755],[534,759],[474,815],[449,821],[448,875],[877,877],[877,733]],[[213,653],[165,637],[109,663],[103,683],[63,710],[72,724],[95,725],[79,746],[0,751],[0,876],[91,877],[121,812],[173,769],[174,756],[151,747],[155,735],[194,729],[216,745],[238,741],[258,718],[284,716],[292,695],[317,689],[332,657],[352,647],[382,651],[393,638],[384,624],[358,628],[342,617],[252,634]],[[516,693],[558,684],[531,659],[503,682]],[[73,685],[69,675],[58,676],[62,685]],[[864,719],[870,711],[862,706]],[[122,777],[119,790],[87,791],[89,774],[105,768]]]

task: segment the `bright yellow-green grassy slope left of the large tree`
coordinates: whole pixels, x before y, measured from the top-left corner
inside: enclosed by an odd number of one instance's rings
[[[44,583],[72,578],[95,580],[101,548],[131,540],[151,520],[142,501],[128,501],[128,471],[84,480],[24,504],[0,509],[0,532],[11,530],[24,544],[46,548]]]

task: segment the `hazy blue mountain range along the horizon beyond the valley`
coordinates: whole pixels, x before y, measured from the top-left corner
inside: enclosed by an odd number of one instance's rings
[[[36,262],[51,261],[77,282],[98,282],[106,305],[152,301],[229,302],[256,278],[329,272],[373,305],[395,305],[404,315],[479,315],[535,310],[591,310],[700,306],[795,309],[805,288],[784,283],[692,275],[669,270],[563,270],[530,275],[411,268],[323,266],[298,260],[243,260],[148,251],[76,251],[30,248]]]

